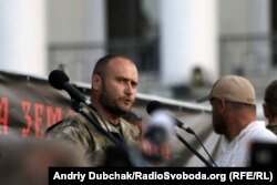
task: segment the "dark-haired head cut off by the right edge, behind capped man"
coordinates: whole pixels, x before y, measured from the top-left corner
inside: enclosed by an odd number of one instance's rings
[[[264,101],[274,115],[277,115],[277,80],[271,81],[265,91]]]

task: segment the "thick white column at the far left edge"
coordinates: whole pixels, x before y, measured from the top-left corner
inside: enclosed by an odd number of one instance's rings
[[[47,75],[44,0],[2,0],[0,27],[0,69]]]

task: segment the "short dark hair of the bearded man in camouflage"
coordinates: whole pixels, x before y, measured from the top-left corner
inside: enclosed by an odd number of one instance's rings
[[[94,66],[93,70],[93,74],[99,74],[99,75],[104,75],[105,74],[105,68],[107,65],[107,63],[114,59],[114,58],[124,58],[124,59],[129,59],[125,55],[122,54],[107,54],[104,55],[103,58],[100,58]]]

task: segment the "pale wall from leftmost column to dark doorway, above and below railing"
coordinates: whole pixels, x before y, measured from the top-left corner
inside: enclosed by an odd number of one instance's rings
[[[90,48],[106,42],[105,1],[49,0],[48,18],[50,44],[82,47],[52,53],[50,70],[63,64],[72,81],[90,82],[96,60],[105,53],[104,48]]]

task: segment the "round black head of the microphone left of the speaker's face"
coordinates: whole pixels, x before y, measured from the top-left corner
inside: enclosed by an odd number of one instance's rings
[[[53,88],[62,90],[63,84],[69,82],[69,76],[61,70],[53,70],[49,74],[48,81]]]

